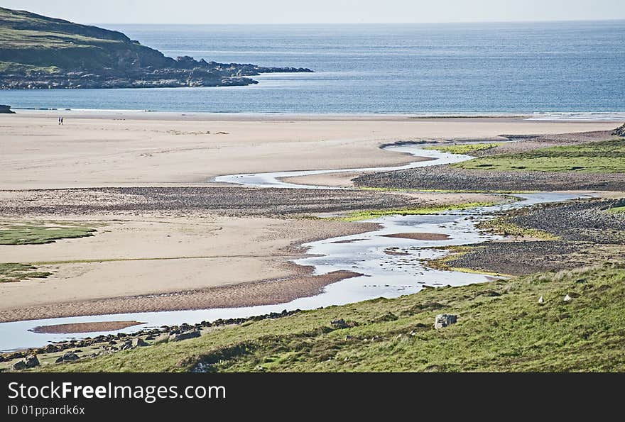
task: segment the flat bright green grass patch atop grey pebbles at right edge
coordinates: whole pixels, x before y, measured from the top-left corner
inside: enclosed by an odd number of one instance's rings
[[[491,155],[460,162],[454,167],[474,170],[597,173],[625,172],[625,140],[614,139],[517,154]]]

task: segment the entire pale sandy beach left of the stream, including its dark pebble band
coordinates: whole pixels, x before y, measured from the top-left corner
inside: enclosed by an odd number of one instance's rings
[[[290,262],[305,254],[299,245],[373,228],[303,218],[303,213],[494,199],[371,191],[303,194],[210,182],[218,175],[401,165],[413,157],[379,146],[615,126],[520,118],[62,113],[63,126],[53,112],[0,117],[0,219],[4,225],[72,221],[97,231],[45,245],[0,245],[0,262],[35,263],[52,273],[0,283],[0,321],[281,303],[352,276],[312,276],[310,268]],[[289,182],[350,186],[359,175]]]

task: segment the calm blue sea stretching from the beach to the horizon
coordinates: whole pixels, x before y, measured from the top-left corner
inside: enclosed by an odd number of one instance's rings
[[[33,109],[240,113],[625,111],[625,21],[122,26],[172,57],[310,67],[251,87],[0,91]]]

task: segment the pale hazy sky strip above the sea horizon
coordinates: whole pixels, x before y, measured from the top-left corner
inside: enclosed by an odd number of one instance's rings
[[[442,23],[625,19],[624,0],[0,0],[78,23]]]

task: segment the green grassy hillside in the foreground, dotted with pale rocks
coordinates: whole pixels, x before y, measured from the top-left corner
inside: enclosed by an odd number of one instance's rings
[[[458,323],[434,330],[444,312]],[[333,318],[358,326],[335,330]],[[624,371],[624,347],[625,270],[606,266],[332,306],[40,370]]]

